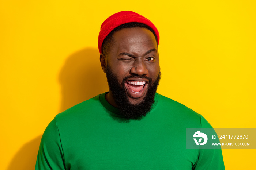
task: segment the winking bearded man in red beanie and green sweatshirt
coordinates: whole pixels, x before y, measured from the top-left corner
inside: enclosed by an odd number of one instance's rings
[[[156,93],[159,33],[132,11],[106,19],[98,38],[109,92],[58,114],[42,136],[35,169],[225,169],[221,150],[186,149],[199,114]]]

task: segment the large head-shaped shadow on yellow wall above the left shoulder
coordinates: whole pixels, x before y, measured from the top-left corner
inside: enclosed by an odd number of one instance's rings
[[[98,49],[86,48],[70,55],[60,71],[59,82],[62,94],[60,112],[108,91]]]

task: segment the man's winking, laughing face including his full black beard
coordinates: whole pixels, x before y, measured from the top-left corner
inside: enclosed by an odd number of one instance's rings
[[[137,112],[148,112],[160,80],[158,47],[154,34],[141,27],[123,28],[115,32],[106,63],[109,93],[118,108],[124,106],[126,112],[137,107]],[[145,109],[148,104],[149,110]]]

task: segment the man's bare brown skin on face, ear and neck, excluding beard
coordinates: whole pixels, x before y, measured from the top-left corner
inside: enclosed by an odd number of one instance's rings
[[[154,82],[159,73],[158,46],[154,34],[142,27],[123,28],[113,34],[113,43],[109,54],[100,54],[101,67],[106,73],[106,66],[118,76],[119,83],[129,75],[147,76]],[[133,92],[127,81],[145,82],[140,92]],[[129,78],[123,85],[127,90],[128,100],[131,104],[140,103],[147,93],[147,78]],[[117,107],[109,88],[106,100]]]

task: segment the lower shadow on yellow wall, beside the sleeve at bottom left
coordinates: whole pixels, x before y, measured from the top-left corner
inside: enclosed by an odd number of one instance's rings
[[[41,138],[42,135],[23,145],[11,160],[7,170],[34,170]]]

